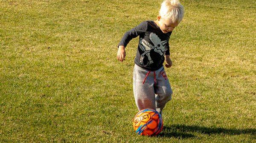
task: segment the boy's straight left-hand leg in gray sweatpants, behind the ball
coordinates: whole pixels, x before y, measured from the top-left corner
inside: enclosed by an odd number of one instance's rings
[[[154,72],[148,74],[143,84],[148,70],[143,69],[135,64],[133,76],[133,90],[136,105],[140,110],[151,108],[156,109],[154,93]]]

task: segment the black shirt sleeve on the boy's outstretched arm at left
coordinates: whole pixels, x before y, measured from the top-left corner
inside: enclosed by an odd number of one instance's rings
[[[118,46],[122,45],[126,47],[128,43],[131,41],[131,39],[136,38],[140,34],[145,33],[145,31],[147,30],[147,26],[147,21],[143,21],[136,27],[132,28],[130,31],[125,32]]]

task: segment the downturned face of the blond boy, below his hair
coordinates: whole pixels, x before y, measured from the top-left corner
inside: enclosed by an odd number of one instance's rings
[[[179,23],[173,23],[170,19],[161,18],[160,15],[157,16],[157,20],[159,23],[159,27],[163,33],[171,32],[175,27],[177,27],[177,25],[179,25]]]

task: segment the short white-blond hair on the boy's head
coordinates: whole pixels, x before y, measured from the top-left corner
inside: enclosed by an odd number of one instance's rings
[[[164,0],[161,4],[159,15],[164,19],[180,23],[184,15],[184,7],[180,4],[179,0]]]

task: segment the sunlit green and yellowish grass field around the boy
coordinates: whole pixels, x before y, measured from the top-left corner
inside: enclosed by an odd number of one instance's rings
[[[255,143],[256,2],[180,0],[173,98],[157,137],[135,134],[138,38],[162,0],[0,0],[0,142]]]

